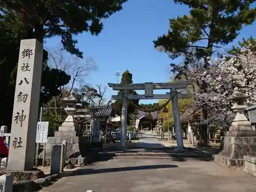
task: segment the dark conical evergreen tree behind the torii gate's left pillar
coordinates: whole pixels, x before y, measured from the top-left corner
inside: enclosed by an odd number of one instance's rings
[[[122,74],[122,78],[121,78],[121,84],[125,85],[125,84],[132,84],[133,83],[133,75],[126,70],[125,72],[123,72]],[[119,92],[118,95],[121,95],[122,93]],[[136,93],[136,91],[134,90],[129,90],[128,94],[132,94],[132,95],[138,95]],[[130,100],[128,101],[128,113],[127,113],[127,122],[129,123],[129,115],[134,113],[135,107],[134,104],[139,104],[139,100]],[[122,111],[122,100],[116,100],[114,102],[114,109],[117,115],[121,116],[121,111]]]

